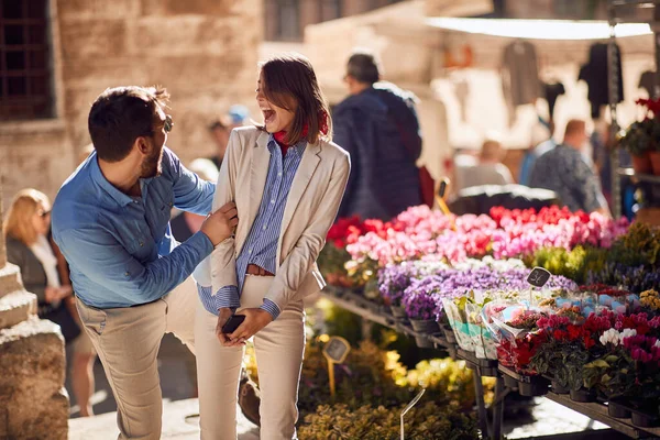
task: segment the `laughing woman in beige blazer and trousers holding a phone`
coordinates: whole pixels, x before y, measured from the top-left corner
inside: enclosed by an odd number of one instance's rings
[[[235,129],[213,209],[234,201],[239,224],[196,273],[195,341],[202,439],[235,439],[239,375],[254,337],[261,438],[296,438],[302,298],[324,286],[316,260],[349,178],[345,151],[330,141],[328,106],[309,61],[292,54],[261,65],[264,124]],[[244,321],[231,333],[233,315]]]

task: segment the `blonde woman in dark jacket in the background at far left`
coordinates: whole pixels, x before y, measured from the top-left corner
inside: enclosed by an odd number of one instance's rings
[[[7,219],[7,260],[19,266],[25,290],[36,295],[37,315],[62,329],[66,343],[72,343],[72,386],[80,416],[94,415],[90,397],[94,393],[94,360],[96,353],[89,337],[77,323],[73,301],[73,289],[68,277],[61,277],[58,262],[48,232],[51,230],[51,202],[36,189],[23,189],[13,198]],[[59,263],[59,264],[58,264]]]

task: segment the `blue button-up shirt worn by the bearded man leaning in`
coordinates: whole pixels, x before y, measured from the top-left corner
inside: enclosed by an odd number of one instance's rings
[[[141,179],[130,197],[101,173],[96,152],[64,183],[53,205],[53,239],[70,266],[76,295],[98,308],[160,299],[184,282],[213,250],[197,232],[177,245],[169,229],[173,206],[206,215],[216,185],[187,170],[167,147],[163,173]]]

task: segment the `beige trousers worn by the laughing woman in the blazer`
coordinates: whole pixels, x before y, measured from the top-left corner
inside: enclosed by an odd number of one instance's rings
[[[273,280],[246,275],[241,308],[260,307]],[[202,440],[237,439],[237,399],[244,349],[222,346],[216,338],[218,317],[197,307],[195,341]],[[289,304],[254,336],[261,392],[261,439],[290,440],[298,420],[298,382],[305,351],[302,301]]]

